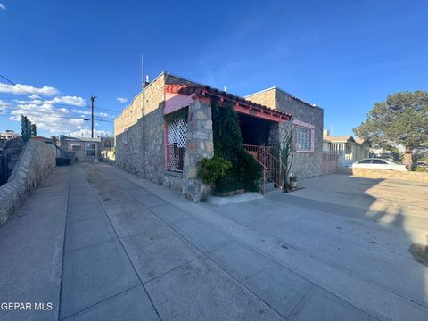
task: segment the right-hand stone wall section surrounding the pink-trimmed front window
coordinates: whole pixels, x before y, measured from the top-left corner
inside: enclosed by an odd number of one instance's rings
[[[299,178],[315,177],[320,175],[323,161],[323,109],[303,102],[276,87],[253,95],[248,95],[245,99],[255,103],[264,104],[270,108],[275,108],[280,111],[286,111],[292,114],[292,121],[299,120],[314,126],[313,151],[295,151],[291,171]],[[286,121],[278,125],[273,124],[269,136],[269,144],[275,144],[277,141],[282,142],[284,136],[286,136],[286,134],[292,129],[294,145],[296,145],[296,126],[292,124],[292,121]]]

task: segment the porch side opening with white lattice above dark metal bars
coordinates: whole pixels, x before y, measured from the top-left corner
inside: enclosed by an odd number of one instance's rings
[[[187,121],[174,119],[166,124],[165,169],[182,172],[185,160]]]

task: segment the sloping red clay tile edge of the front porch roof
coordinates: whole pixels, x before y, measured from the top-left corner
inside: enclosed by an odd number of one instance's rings
[[[259,111],[261,115],[266,115],[274,118],[279,118],[284,120],[292,119],[292,115],[284,112],[278,111],[273,108],[269,108],[268,106],[254,103],[249,100],[246,100],[240,96],[228,94],[224,91],[218,90],[216,88],[212,88],[210,86],[202,86],[202,85],[165,85],[165,92],[171,94],[180,94],[180,95],[193,95],[198,98],[210,98],[212,96],[220,98],[221,101],[229,101],[235,103],[236,111],[244,112],[251,114],[251,111]],[[248,110],[245,112],[244,110]],[[255,115],[256,117],[258,115]]]

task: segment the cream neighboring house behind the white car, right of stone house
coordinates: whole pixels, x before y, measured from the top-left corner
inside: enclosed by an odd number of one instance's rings
[[[323,136],[323,152],[336,152],[340,155],[339,165],[347,166],[355,161],[370,157],[370,144],[353,136]]]

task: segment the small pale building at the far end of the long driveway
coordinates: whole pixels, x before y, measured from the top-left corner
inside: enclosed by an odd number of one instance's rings
[[[64,152],[74,152],[74,161],[98,161],[100,157],[100,138],[75,138],[60,136],[58,147]]]

